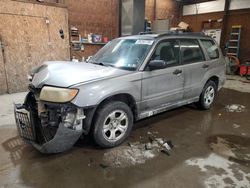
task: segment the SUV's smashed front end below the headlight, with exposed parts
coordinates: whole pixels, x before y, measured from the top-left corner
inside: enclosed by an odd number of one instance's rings
[[[39,99],[40,92],[29,92],[23,105],[15,104],[20,136],[42,153],[70,149],[83,133],[83,108],[72,103],[52,103]]]

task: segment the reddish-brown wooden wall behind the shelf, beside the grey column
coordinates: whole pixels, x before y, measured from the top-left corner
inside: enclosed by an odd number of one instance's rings
[[[64,0],[69,11],[69,26],[75,26],[86,37],[101,34],[109,39],[119,35],[119,0]],[[71,51],[72,56],[85,58],[95,54],[102,45],[85,45],[85,50]]]

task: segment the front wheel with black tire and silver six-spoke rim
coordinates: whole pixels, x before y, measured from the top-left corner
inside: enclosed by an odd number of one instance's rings
[[[111,101],[97,110],[93,137],[97,145],[111,148],[120,145],[133,127],[133,113],[127,104]]]

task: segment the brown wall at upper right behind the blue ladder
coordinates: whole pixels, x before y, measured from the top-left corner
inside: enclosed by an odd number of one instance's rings
[[[200,32],[202,30],[202,22],[211,20],[217,20],[223,18],[223,12],[199,14],[199,15],[189,15],[183,16],[182,20],[190,24],[190,27],[195,32]],[[229,11],[228,21],[226,26],[226,32],[222,33],[221,40],[222,50],[225,48],[226,42],[229,40],[229,34],[232,25],[242,25],[241,33],[241,44],[240,44],[240,61],[244,63],[246,60],[250,59],[250,9],[242,10],[231,10]]]

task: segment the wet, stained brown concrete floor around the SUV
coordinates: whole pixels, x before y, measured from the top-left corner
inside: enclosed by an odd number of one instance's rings
[[[235,90],[223,88],[209,111],[190,105],[136,123],[128,142],[148,142],[154,133],[174,148],[170,156],[160,153],[126,168],[100,165],[114,149],[99,149],[91,140],[67,153],[40,154],[14,125],[12,103],[25,93],[0,96],[0,187],[250,187],[250,84],[233,80],[236,87],[230,79],[226,87]],[[242,84],[246,91],[236,91]],[[229,112],[231,104],[245,109]]]

